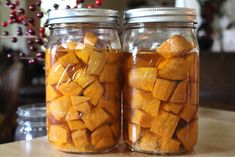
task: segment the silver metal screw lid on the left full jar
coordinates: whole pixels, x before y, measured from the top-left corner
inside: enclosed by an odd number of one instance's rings
[[[119,12],[109,9],[65,9],[49,12],[49,25],[67,23],[118,23]]]

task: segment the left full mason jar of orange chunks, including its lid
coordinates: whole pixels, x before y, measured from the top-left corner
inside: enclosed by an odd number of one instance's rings
[[[47,129],[58,150],[98,153],[119,143],[118,17],[106,9],[49,13]]]

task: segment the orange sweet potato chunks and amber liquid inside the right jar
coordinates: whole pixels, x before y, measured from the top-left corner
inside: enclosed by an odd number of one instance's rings
[[[195,51],[194,51],[195,50]],[[198,129],[198,52],[180,35],[125,63],[124,139],[154,153],[191,151]]]

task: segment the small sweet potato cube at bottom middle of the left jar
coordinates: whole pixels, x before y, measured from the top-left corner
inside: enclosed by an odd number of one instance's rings
[[[87,130],[77,130],[72,133],[73,143],[79,151],[85,151],[86,147],[89,145]]]

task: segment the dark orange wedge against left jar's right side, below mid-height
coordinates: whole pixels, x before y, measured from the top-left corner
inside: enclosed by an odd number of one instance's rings
[[[112,117],[119,119],[120,117],[120,106],[115,104],[113,101],[104,99],[103,97],[100,99],[98,106],[103,108],[107,113],[112,115]]]

